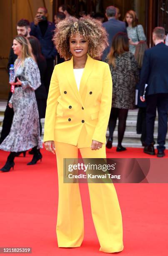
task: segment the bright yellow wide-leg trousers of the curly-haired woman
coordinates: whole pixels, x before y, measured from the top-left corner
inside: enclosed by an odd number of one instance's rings
[[[63,159],[78,158],[78,146],[55,142],[58,168],[58,247],[79,247],[84,236],[83,209],[78,183],[63,183]],[[83,158],[106,158],[99,150],[80,148]],[[100,251],[123,250],[123,225],[118,197],[112,183],[88,183],[91,211]]]

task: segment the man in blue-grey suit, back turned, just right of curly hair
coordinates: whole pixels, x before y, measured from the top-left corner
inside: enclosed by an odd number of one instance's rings
[[[118,32],[127,33],[125,22],[117,20],[116,15],[117,15],[117,10],[114,6],[111,5],[106,8],[105,16],[108,18],[108,21],[103,23],[103,27],[106,29],[106,31],[108,33],[109,46],[103,52],[103,56],[102,56],[103,61],[105,60],[105,58],[107,57],[107,55],[110,51],[113,37]]]

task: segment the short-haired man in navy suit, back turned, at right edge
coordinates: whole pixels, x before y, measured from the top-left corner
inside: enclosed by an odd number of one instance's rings
[[[153,132],[158,108],[158,157],[165,155],[165,137],[168,130],[168,46],[164,44],[165,29],[154,28],[154,47],[145,51],[140,74],[140,100],[145,101],[146,108],[146,146],[144,153],[155,155]],[[144,88],[146,87],[145,99]]]

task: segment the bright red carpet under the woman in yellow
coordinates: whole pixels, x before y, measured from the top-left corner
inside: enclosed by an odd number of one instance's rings
[[[56,162],[54,155],[44,150],[42,154],[42,163],[27,166],[32,156],[21,156],[15,160],[14,170],[0,172],[0,247],[32,247],[32,255],[36,256],[103,255],[91,218],[87,184],[80,184],[85,218],[83,244],[80,248],[57,247]],[[0,167],[7,155],[0,151]],[[148,155],[140,148],[128,148],[123,153],[116,153],[113,148],[107,151],[107,157],[142,158]],[[161,169],[159,171],[161,173]],[[123,215],[125,248],[114,254],[167,256],[168,184],[115,184],[115,187]]]

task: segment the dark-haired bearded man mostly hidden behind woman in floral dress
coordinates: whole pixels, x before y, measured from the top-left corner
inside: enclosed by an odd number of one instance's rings
[[[30,23],[28,20],[25,20],[25,19],[19,20],[16,28],[17,28],[18,35],[25,36],[25,37],[30,36]],[[10,65],[14,64],[15,59],[17,59],[17,57],[18,56],[14,54],[13,48],[11,47],[10,54],[9,54],[9,61],[8,61],[8,72],[10,69]],[[11,96],[12,96],[12,92],[9,92],[8,102]],[[4,113],[4,119],[3,119],[3,128],[0,136],[0,144],[3,142],[3,140],[8,136],[10,132],[10,128],[13,121],[13,115],[14,115],[13,108],[9,108],[7,103],[5,113]]]

